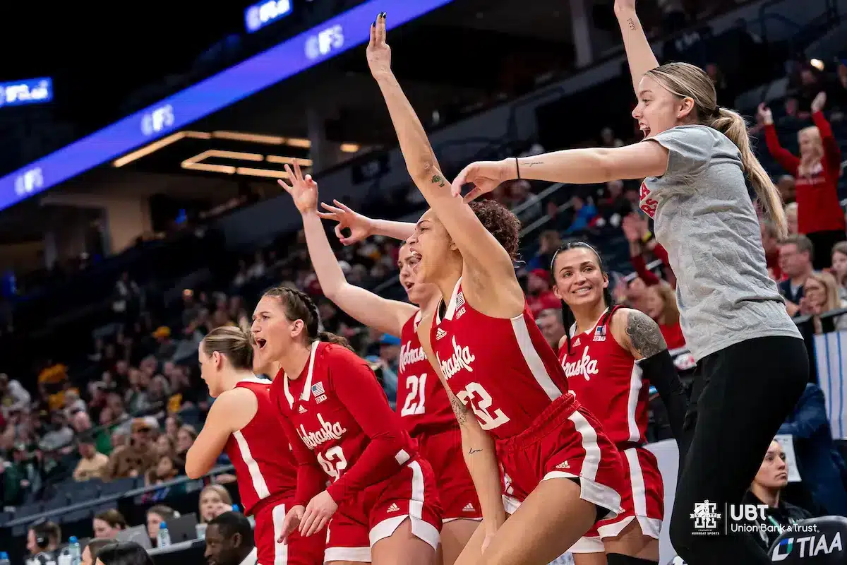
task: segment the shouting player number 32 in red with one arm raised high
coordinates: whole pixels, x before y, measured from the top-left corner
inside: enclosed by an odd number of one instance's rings
[[[562,366],[532,319],[512,267],[518,219],[494,201],[481,202],[488,209],[478,217],[451,196],[424,127],[391,73],[385,14],[372,27],[368,62],[412,180],[432,207],[418,220],[410,249],[419,258],[418,281],[438,286],[442,301],[418,335],[465,427],[462,449],[472,455],[468,468],[484,516],[457,562],[551,562],[598,519],[620,511],[620,456],[567,394]],[[508,519],[498,459],[515,493],[527,493]]]

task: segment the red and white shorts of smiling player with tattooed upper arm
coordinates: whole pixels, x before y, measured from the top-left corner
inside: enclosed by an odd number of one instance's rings
[[[595,523],[571,547],[572,553],[602,553],[602,539],[616,537],[633,520],[638,520],[644,535],[659,539],[665,516],[665,486],[656,456],[644,447],[630,447],[620,453],[625,479],[621,490],[623,512]]]

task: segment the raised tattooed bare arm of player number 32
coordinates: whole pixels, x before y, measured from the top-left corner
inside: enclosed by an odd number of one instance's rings
[[[409,174],[456,242],[465,262],[479,267],[481,273],[514,277],[512,258],[506,250],[485,230],[462,197],[451,195],[450,184],[441,173],[424,126],[391,72],[391,50],[385,43],[385,14],[379,14],[371,27],[368,65],[385,97]]]

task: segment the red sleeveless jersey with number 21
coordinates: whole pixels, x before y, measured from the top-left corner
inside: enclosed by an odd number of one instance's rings
[[[447,391],[429,364],[418,338],[422,313],[409,318],[400,335],[400,370],[397,373],[397,413],[409,434],[437,434],[458,428]]]

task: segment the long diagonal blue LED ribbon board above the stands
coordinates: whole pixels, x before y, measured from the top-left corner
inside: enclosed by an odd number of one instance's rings
[[[276,47],[127,116],[0,179],[0,210],[180,130],[222,108],[368,42],[387,12],[395,28],[453,0],[371,0]]]

